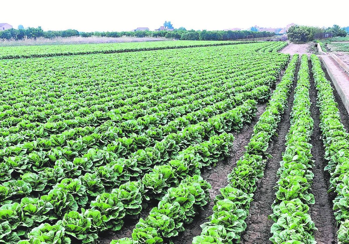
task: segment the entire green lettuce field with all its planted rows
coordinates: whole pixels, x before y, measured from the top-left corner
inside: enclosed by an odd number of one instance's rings
[[[0,49],[0,244],[349,243],[349,115],[286,42]]]

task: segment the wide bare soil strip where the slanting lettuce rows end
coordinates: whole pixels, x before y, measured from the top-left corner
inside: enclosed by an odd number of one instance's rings
[[[230,158],[224,160],[224,162],[218,162],[216,167],[211,170],[205,170],[201,174],[201,176],[212,185],[212,189],[210,189],[211,201],[209,205],[205,206],[204,211],[196,216],[192,224],[185,226],[184,232],[181,232],[177,238],[173,238],[172,241],[174,244],[192,243],[193,237],[200,235],[200,224],[206,222],[207,217],[212,214],[212,208],[214,205],[213,200],[218,194],[220,194],[220,189],[228,184],[228,174],[231,173],[234,167],[236,167],[236,161],[245,153],[245,146],[250,141],[253,127],[255,123],[257,123],[259,116],[265,111],[265,108],[266,104],[258,105],[257,116],[252,124],[245,125],[241,132],[233,133],[235,140],[230,151]]]

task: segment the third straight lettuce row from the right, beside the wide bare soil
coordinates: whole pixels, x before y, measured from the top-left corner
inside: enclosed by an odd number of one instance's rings
[[[210,221],[201,225],[201,235],[193,238],[194,244],[238,243],[246,229],[245,219],[256,189],[256,181],[263,177],[270,139],[275,135],[281,115],[287,106],[294,81],[298,54],[292,57],[282,80],[277,84],[266,111],[254,126],[246,153],[237,161],[237,167],[228,175],[228,185],[216,196]]]

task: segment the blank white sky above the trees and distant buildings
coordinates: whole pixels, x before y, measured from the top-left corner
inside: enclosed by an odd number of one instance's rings
[[[348,11],[348,0],[319,5],[314,0],[3,0],[0,23],[78,31],[154,30],[165,20],[187,30],[284,27],[292,22],[327,27],[349,26]]]

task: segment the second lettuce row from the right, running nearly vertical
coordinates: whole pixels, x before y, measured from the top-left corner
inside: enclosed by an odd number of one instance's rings
[[[270,229],[273,234],[270,241],[274,244],[316,243],[314,231],[317,228],[308,213],[308,205],[315,201],[310,193],[314,174],[311,171],[312,145],[309,143],[313,132],[309,88],[309,61],[304,54],[298,72],[286,148],[277,171],[279,180],[274,187],[276,199],[270,215],[275,221]]]

